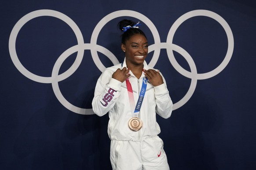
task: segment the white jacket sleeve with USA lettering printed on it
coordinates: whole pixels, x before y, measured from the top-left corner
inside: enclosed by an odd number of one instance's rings
[[[120,81],[112,78],[110,71],[106,70],[101,74],[91,103],[95,114],[103,116],[113,108],[120,94],[121,84]]]

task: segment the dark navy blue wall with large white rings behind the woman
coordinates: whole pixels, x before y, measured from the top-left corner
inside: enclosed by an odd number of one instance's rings
[[[99,75],[122,62],[123,18],[140,21],[174,111],[157,116],[172,170],[256,169],[256,3],[2,0],[0,169],[110,170]]]

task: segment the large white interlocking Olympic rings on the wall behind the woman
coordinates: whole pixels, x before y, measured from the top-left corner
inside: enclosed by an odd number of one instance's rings
[[[37,17],[41,17],[41,16],[51,16],[51,17],[59,18],[60,20],[66,22],[66,24],[68,24],[72,28],[72,30],[75,33],[76,38],[77,38],[77,45],[70,47],[69,49],[64,51],[59,56],[59,58],[57,59],[57,61],[55,62],[55,65],[53,67],[51,77],[38,76],[38,75],[33,74],[30,71],[28,71],[21,64],[21,62],[18,59],[17,53],[16,53],[16,46],[15,46],[16,38],[17,38],[18,32],[20,31],[22,26],[25,25],[26,22],[32,20],[33,18],[37,18]],[[168,54],[168,59],[170,60],[170,63],[172,64],[172,66],[180,74],[191,79],[190,88],[188,89],[187,94],[182,99],[180,99],[177,103],[174,103],[173,110],[176,110],[179,107],[183,106],[185,103],[187,103],[187,101],[190,99],[190,97],[194,93],[194,90],[197,85],[197,80],[212,78],[213,76],[219,74],[227,66],[227,64],[229,63],[229,61],[232,57],[232,53],[234,50],[234,37],[233,37],[233,33],[230,29],[230,26],[227,24],[227,22],[221,16],[219,16],[218,14],[216,14],[212,11],[195,10],[195,11],[190,11],[190,12],[187,12],[186,14],[183,14],[181,17],[179,17],[174,22],[174,24],[170,28],[170,30],[168,32],[167,39],[166,39],[166,43],[161,43],[160,36],[157,32],[157,28],[150,21],[150,19],[147,18],[146,16],[144,16],[143,14],[140,14],[139,12],[136,12],[136,11],[130,11],[130,10],[115,11],[115,12],[112,12],[112,13],[106,15],[104,18],[102,18],[102,20],[99,21],[99,23],[95,26],[94,31],[92,32],[91,42],[84,43],[83,35],[80,32],[80,29],[78,28],[76,23],[71,18],[69,18],[65,14],[62,14],[58,11],[38,10],[38,11],[33,11],[33,12],[23,16],[15,24],[14,28],[12,29],[10,39],[9,39],[9,52],[10,52],[11,60],[14,63],[15,67],[18,69],[18,71],[20,71],[27,78],[29,78],[33,81],[40,82],[40,83],[51,83],[53,91],[55,93],[55,96],[57,97],[59,102],[63,106],[65,106],[68,110],[73,111],[74,113],[85,114],[85,115],[94,114],[92,109],[80,108],[80,107],[74,106],[71,103],[69,103],[62,95],[62,93],[59,89],[58,83],[59,83],[59,81],[62,81],[64,79],[68,78],[70,75],[72,75],[77,70],[77,68],[80,66],[80,63],[84,56],[84,50],[91,50],[91,57],[100,71],[104,71],[106,67],[99,60],[99,56],[98,56],[97,52],[100,52],[100,53],[106,55],[106,57],[108,57],[112,61],[113,64],[119,64],[119,61],[113,55],[113,53],[111,53],[109,50],[107,50],[103,46],[97,45],[96,42],[98,39],[99,32],[101,31],[101,28],[103,28],[103,26],[106,25],[107,22],[111,21],[114,18],[123,17],[123,16],[138,18],[140,21],[143,21],[148,26],[148,28],[150,28],[150,31],[152,32],[153,38],[154,38],[154,44],[149,46],[149,53],[154,51],[154,55],[153,55],[150,63],[148,64],[150,67],[154,67],[155,64],[157,63],[157,60],[158,60],[158,57],[160,54],[160,50],[166,49],[167,54]],[[219,66],[216,67],[214,70],[209,71],[207,73],[203,73],[203,74],[197,73],[197,68],[196,68],[194,60],[190,56],[190,54],[187,53],[187,51],[184,50],[183,48],[181,48],[180,46],[177,46],[172,43],[174,34],[175,34],[177,28],[179,27],[179,25],[181,25],[187,19],[196,17],[196,16],[206,16],[206,17],[209,17],[209,18],[212,18],[212,19],[218,21],[219,24],[222,25],[222,27],[224,28],[224,30],[227,34],[227,40],[228,40],[227,53],[226,53],[226,56],[224,57],[222,63],[219,64]],[[191,72],[185,70],[183,67],[181,67],[178,64],[178,62],[176,61],[176,59],[174,57],[173,51],[176,51],[176,52],[184,55],[183,57],[185,58],[185,60],[187,60],[187,63],[189,64]],[[58,74],[62,63],[66,60],[66,58],[68,58],[71,54],[76,53],[76,52],[77,52],[77,57],[76,57],[74,63],[72,64],[72,66],[64,73]]]

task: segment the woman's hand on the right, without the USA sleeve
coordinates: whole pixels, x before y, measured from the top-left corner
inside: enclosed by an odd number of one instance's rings
[[[161,84],[164,84],[163,78],[161,76],[161,74],[158,71],[149,69],[149,70],[143,70],[145,73],[146,78],[148,78],[148,80],[150,81],[151,85],[153,86],[158,86]]]

